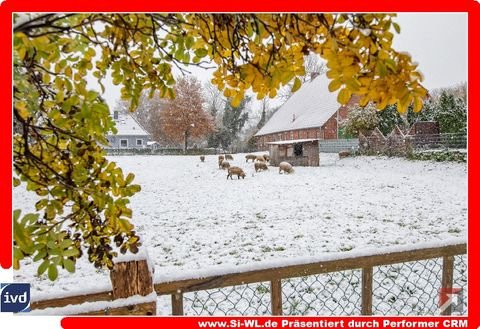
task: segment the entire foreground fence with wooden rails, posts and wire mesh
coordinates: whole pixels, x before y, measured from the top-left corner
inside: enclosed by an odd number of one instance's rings
[[[414,285],[409,281],[411,276],[417,281],[420,278],[423,280],[421,282],[427,282],[428,284],[430,284],[429,281],[433,280],[430,277],[441,276],[441,287],[448,288],[457,285],[466,288],[466,269],[459,268],[463,265],[464,260],[461,259],[461,263],[455,262],[455,256],[464,255],[466,252],[466,243],[453,242],[440,247],[413,247],[408,250],[385,254],[357,254],[357,256],[339,254],[339,257],[335,259],[327,258],[324,261],[314,263],[239,271],[204,278],[156,282],[152,284],[151,288],[146,287],[141,295],[147,296],[149,291],[154,291],[157,295],[170,295],[173,315],[195,314],[195,312],[196,314],[203,314],[205,311],[208,311],[209,314],[237,312],[246,315],[252,313],[282,315],[285,313],[308,314],[312,310],[317,313],[328,311],[338,315],[337,313],[344,313],[345,309],[348,314],[371,315],[378,311],[374,308],[374,305],[380,302],[383,303],[380,304],[383,309],[386,309],[387,306],[390,307],[383,313],[390,314],[392,308],[394,311],[398,311],[398,308],[400,308],[400,311],[404,310],[402,305],[398,305],[399,302],[404,302],[404,299],[394,294],[396,292],[395,287],[401,287],[397,289],[401,290],[400,294],[405,294],[405,289],[407,293],[408,289],[414,289],[409,288],[409,285]],[[436,261],[436,259],[439,259],[439,261]],[[424,261],[427,263],[418,263]],[[404,271],[403,268],[410,263],[413,263],[413,265],[407,266],[408,271]],[[120,268],[125,266],[128,267],[129,265],[121,265]],[[132,264],[131,267],[138,268],[138,264]],[[425,271],[429,274],[427,278],[424,277]],[[455,273],[461,276],[462,282],[454,281]],[[319,279],[320,275],[327,276],[327,283]],[[376,281],[375,277],[379,275],[383,279]],[[123,274],[120,274],[120,276],[123,276]],[[399,278],[400,281],[398,282]],[[145,278],[142,275],[142,278],[139,277],[136,280],[145,281]],[[136,286],[138,284],[136,280],[131,280],[133,282],[129,284],[132,287]],[[120,289],[124,289],[123,285],[125,283],[122,284]],[[257,285],[253,288],[249,286],[251,284]],[[247,288],[236,289],[237,286],[246,286]],[[318,289],[318,286],[321,289]],[[55,307],[61,310],[61,307],[71,304],[114,301],[119,298],[118,293],[115,296],[115,291],[118,288],[114,284],[113,291],[34,301],[31,303],[31,308],[32,310],[39,310]],[[216,300],[210,298],[211,293],[208,290],[218,290],[220,288],[229,288],[230,291],[228,293],[219,292]],[[415,297],[418,299],[416,301],[419,305],[418,312],[425,313],[424,309],[433,312],[427,306],[436,305],[432,299],[437,297],[438,291],[435,290],[434,285],[429,289],[431,290],[430,293],[425,294],[423,291],[420,296]],[[192,293],[194,294],[193,298],[188,296]],[[207,298],[199,298],[197,296],[199,293],[206,293]],[[433,293],[435,296],[432,295]],[[409,296],[413,296],[411,292]],[[227,306],[222,308],[217,300],[227,304]],[[352,305],[351,300],[360,305]],[[192,308],[186,308],[185,302],[187,304],[191,303]],[[302,303],[306,306],[301,306]],[[384,303],[390,304],[385,306]],[[122,310],[131,312],[129,314],[152,314],[155,310],[155,303],[140,306],[132,305],[131,307],[123,307]],[[200,309],[200,311],[197,312],[195,308]],[[409,309],[406,311],[409,311]],[[118,312],[119,310],[106,308],[90,314],[120,314]],[[451,308],[447,308],[442,314],[448,315],[451,312]]]

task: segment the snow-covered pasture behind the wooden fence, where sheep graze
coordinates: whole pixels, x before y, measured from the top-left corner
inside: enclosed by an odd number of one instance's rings
[[[157,276],[466,238],[465,164],[321,154],[319,168],[279,175],[234,157],[244,180],[227,181],[216,156],[111,157],[142,185],[131,207]],[[31,211],[33,200],[14,191],[14,209]],[[25,262],[15,277],[32,283],[33,299],[109,286],[85,260],[54,283],[36,266]]]

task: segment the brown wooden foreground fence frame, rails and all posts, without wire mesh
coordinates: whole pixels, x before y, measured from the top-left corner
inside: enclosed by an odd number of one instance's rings
[[[326,260],[308,264],[298,264],[284,267],[229,273],[224,275],[214,275],[199,279],[157,282],[152,284],[152,286],[150,286],[152,282],[151,277],[145,277],[148,274],[146,263],[139,264],[138,261],[134,261],[134,266],[123,264],[116,269],[116,273],[111,274],[113,291],[33,301],[31,303],[31,308],[32,310],[38,310],[49,307],[61,308],[67,305],[82,304],[85,302],[114,301],[117,298],[127,297],[134,294],[145,296],[150,291],[155,291],[157,295],[171,295],[172,314],[183,315],[183,300],[185,293],[215,288],[224,288],[236,285],[244,285],[249,283],[270,282],[270,302],[272,315],[282,315],[282,279],[305,277],[309,275],[325,274],[347,270],[360,270],[362,272],[361,313],[362,315],[371,315],[373,304],[372,287],[374,267],[441,258],[443,259],[441,284],[442,287],[449,288],[453,286],[454,256],[463,255],[466,254],[466,252],[466,243],[457,243],[442,247],[412,249],[407,251],[390,252],[386,254],[375,254],[360,257],[346,257],[341,259]],[[123,276],[125,275],[125,273],[129,273],[129,280],[124,279]],[[118,283],[116,283],[116,281],[118,281]],[[128,281],[131,282],[128,283]],[[122,310],[126,310],[126,314],[155,314],[155,303],[149,303],[147,307],[133,306],[122,308]],[[118,312],[120,312],[120,310],[110,309],[99,310],[98,312],[91,314],[120,314]],[[451,308],[447,308],[444,312],[442,312],[442,314],[451,314]]]

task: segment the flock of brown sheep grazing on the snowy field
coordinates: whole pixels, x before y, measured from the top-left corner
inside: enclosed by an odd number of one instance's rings
[[[230,179],[233,179],[233,175],[237,176],[237,179],[240,179],[242,177],[245,179],[245,172],[243,171],[242,168],[240,167],[235,167],[235,166],[230,166],[230,162],[228,161],[233,161],[233,156],[231,154],[225,154],[225,155],[219,155],[218,156],[218,168],[227,170],[227,179],[230,177]],[[268,164],[270,162],[270,156],[268,154],[263,154],[263,155],[255,155],[255,154],[247,154],[245,156],[245,162],[248,162],[248,160],[252,160],[255,172],[263,171],[263,170],[268,170]],[[200,161],[204,162],[205,161],[205,156],[201,155],[200,156]],[[281,162],[279,167],[278,167],[278,173],[288,173],[291,174],[293,173],[293,166],[288,163],[288,162]]]

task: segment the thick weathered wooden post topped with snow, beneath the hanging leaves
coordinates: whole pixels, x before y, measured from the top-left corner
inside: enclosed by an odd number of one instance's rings
[[[135,295],[147,296],[154,291],[152,273],[150,273],[146,260],[116,263],[110,271],[110,280],[112,281],[114,299]],[[133,307],[126,314],[156,314],[156,302],[146,303],[145,305],[148,305],[148,307]]]

